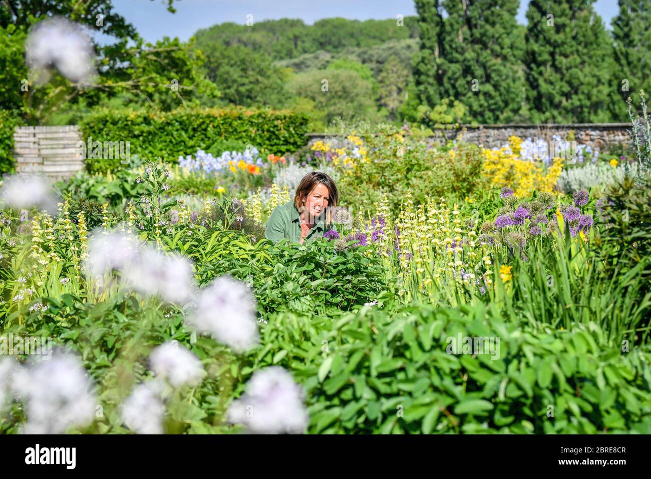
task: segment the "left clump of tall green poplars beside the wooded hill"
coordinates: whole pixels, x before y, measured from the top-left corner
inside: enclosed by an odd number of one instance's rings
[[[467,106],[479,123],[508,123],[521,109],[524,76],[518,0],[417,0],[421,51],[414,76],[421,101]],[[447,16],[443,17],[443,10]]]

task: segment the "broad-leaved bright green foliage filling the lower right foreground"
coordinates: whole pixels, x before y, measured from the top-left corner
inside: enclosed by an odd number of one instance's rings
[[[601,333],[521,330],[482,306],[383,302],[335,319],[274,317],[242,373],[295,371],[310,433],[648,433],[651,351],[603,347]],[[498,357],[450,354],[458,335],[499,338]]]

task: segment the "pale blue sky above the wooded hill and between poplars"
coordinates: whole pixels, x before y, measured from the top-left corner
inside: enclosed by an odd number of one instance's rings
[[[518,21],[527,23],[525,12],[529,1],[522,0]],[[133,23],[150,42],[164,35],[187,40],[200,28],[215,23],[244,23],[247,14],[254,22],[277,18],[301,18],[313,23],[320,18],[344,17],[355,20],[396,18],[416,13],[413,0],[178,0],[176,13],[165,8],[163,0],[113,0],[115,11]],[[595,8],[610,27],[617,14],[616,0],[597,0]]]

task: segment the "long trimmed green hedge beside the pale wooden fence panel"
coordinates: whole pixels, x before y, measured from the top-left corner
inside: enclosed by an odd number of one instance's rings
[[[307,143],[308,119],[291,111],[197,109],[169,112],[101,110],[81,122],[83,141],[129,141],[142,160],[176,161],[179,155],[211,151],[225,141],[251,144],[261,152],[294,152]],[[89,159],[89,171],[120,167],[119,158]]]

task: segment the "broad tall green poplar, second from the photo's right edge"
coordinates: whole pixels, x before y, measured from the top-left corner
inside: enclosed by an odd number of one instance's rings
[[[594,0],[533,0],[527,10],[527,100],[535,122],[609,121],[615,70]],[[621,108],[615,108],[621,109]]]

